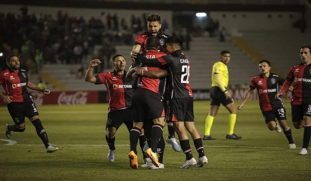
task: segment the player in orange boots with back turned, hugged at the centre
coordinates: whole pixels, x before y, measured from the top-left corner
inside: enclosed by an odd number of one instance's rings
[[[159,46],[159,39],[157,37],[149,37],[146,41],[146,57],[147,58],[157,58],[166,53],[157,51]],[[133,69],[132,69],[133,70]],[[146,154],[150,156],[153,160],[155,166],[150,167],[151,169],[164,168],[163,165],[163,151],[165,147],[164,139],[162,137],[162,129],[165,125],[165,112],[162,103],[161,96],[159,94],[159,77],[167,76],[166,70],[161,70],[158,67],[147,67],[144,66],[144,70],[148,70],[145,76],[138,76],[137,88],[133,93],[133,106],[135,109],[135,125],[131,130],[130,142],[131,142],[131,152],[129,153],[130,163],[132,168],[138,167],[137,162],[137,141],[138,141],[138,130],[140,131],[144,127],[145,132],[149,132],[148,127],[145,125],[150,124],[151,120],[154,122],[151,128],[150,136],[150,149],[146,151]],[[129,71],[130,72],[130,71]],[[132,71],[133,72],[133,71]],[[158,72],[159,76],[154,76],[152,72]],[[130,73],[129,73],[130,74]],[[140,74],[142,75],[142,74]],[[160,128],[160,129],[159,129]],[[160,134],[160,135],[158,135]],[[159,139],[161,140],[161,145],[158,145]],[[156,152],[161,151],[161,157],[157,157]],[[157,163],[158,162],[158,163]]]

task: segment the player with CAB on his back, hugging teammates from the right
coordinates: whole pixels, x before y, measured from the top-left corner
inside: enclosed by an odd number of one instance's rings
[[[171,80],[169,85],[170,118],[179,137],[181,149],[186,154],[186,161],[180,168],[201,167],[207,164],[207,157],[204,153],[202,138],[194,124],[193,95],[189,84],[190,64],[181,50],[181,44],[179,38],[170,37],[166,43],[166,52],[170,55],[157,59],[146,59],[138,54],[137,60],[151,67],[164,65],[168,67],[169,79]],[[194,146],[199,153],[198,163],[193,158],[186,129],[190,133]]]

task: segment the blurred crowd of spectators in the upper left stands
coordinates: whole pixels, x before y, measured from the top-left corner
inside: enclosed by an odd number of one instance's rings
[[[103,60],[98,70],[101,72],[111,66],[115,45],[133,45],[136,35],[146,30],[146,14],[132,15],[128,24],[116,13],[102,12],[86,20],[62,11],[57,12],[57,18],[29,15],[26,6],[20,12],[0,13],[0,70],[6,67],[7,55],[17,54],[21,64],[33,74],[40,73],[43,64],[79,64],[93,57]],[[167,29],[167,22],[162,26]],[[101,48],[94,51],[95,45]]]

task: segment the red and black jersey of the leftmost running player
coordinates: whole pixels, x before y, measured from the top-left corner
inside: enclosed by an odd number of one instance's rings
[[[13,102],[24,102],[31,100],[27,90],[28,76],[25,69],[18,71],[6,69],[0,73],[0,85],[7,96],[12,96]]]

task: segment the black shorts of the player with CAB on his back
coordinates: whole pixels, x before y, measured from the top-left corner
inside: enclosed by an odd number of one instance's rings
[[[193,97],[170,99],[169,106],[171,121],[194,121]]]

